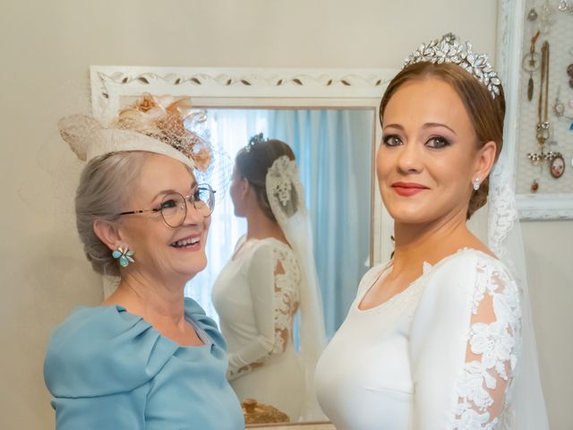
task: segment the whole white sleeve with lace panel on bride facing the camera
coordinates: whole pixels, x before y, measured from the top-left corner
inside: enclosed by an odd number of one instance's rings
[[[506,424],[521,348],[515,280],[498,260],[469,250],[430,266],[422,282],[409,336],[413,428],[513,428]]]

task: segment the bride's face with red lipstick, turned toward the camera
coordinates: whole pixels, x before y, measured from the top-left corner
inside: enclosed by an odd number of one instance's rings
[[[390,215],[414,224],[465,219],[480,150],[456,91],[435,78],[406,82],[383,118],[376,170]]]

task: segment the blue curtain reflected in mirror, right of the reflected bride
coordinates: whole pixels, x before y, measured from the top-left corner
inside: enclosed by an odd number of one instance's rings
[[[288,142],[298,160],[330,337],[367,269],[373,114],[317,109],[275,110],[269,116],[269,134]]]

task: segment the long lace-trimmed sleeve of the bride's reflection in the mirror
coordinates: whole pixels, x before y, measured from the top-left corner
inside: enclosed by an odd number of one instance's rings
[[[292,252],[286,246],[261,246],[252,257],[248,278],[258,335],[229,354],[228,380],[264,366],[269,357],[283,353],[292,341],[300,284]]]

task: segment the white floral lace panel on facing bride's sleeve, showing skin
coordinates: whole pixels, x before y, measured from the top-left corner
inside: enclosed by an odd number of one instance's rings
[[[466,362],[458,377],[452,429],[494,429],[509,403],[521,335],[519,293],[497,265],[478,262]]]

